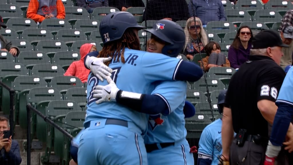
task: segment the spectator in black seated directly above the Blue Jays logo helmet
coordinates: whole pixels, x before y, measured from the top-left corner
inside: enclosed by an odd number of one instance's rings
[[[144,10],[143,20],[170,21],[187,20],[190,17],[185,0],[149,0]]]

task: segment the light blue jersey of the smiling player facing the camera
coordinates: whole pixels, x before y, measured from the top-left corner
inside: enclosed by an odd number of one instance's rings
[[[177,142],[185,139],[187,131],[183,107],[187,84],[184,81],[158,82],[153,95],[159,95],[168,105],[168,114],[150,115],[145,144]],[[167,116],[166,116],[167,115]]]

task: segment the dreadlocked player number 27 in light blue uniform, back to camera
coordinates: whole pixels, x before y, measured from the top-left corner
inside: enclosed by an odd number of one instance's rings
[[[194,82],[201,78],[202,70],[192,62],[140,51],[137,33],[144,27],[139,26],[128,12],[108,14],[99,28],[103,36],[103,49],[89,53],[85,60],[85,66],[92,73],[88,76],[88,109],[85,130],[80,138],[78,164],[146,165],[147,152],[143,136],[147,130],[148,115],[145,113],[155,115],[168,113],[169,110],[161,96],[151,95],[154,82]],[[194,72],[185,73],[188,69]],[[93,97],[93,89],[97,85],[107,85],[108,82],[102,80],[110,72],[113,81],[121,89],[117,92],[116,100],[132,102],[133,111],[115,102],[95,103],[98,99]],[[132,92],[147,94],[137,95]]]

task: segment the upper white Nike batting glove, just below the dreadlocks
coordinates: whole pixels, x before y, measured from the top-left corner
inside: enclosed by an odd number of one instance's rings
[[[91,69],[92,73],[101,81],[104,81],[107,76],[111,76],[112,69],[105,65],[105,62],[112,60],[112,57],[108,58],[96,58],[96,57],[86,57],[86,66]]]

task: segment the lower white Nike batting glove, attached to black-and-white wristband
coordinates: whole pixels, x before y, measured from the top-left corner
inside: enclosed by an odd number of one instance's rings
[[[108,85],[97,85],[93,90],[93,93],[95,93],[93,94],[93,97],[100,98],[96,101],[97,104],[101,102],[116,101],[116,95],[119,89],[110,76],[107,76],[105,79],[108,81]]]

